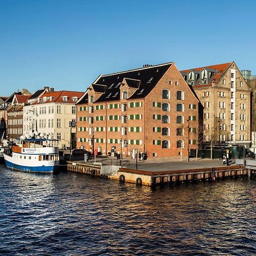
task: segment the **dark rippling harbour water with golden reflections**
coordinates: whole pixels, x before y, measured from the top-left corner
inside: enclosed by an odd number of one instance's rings
[[[254,255],[255,180],[137,187],[0,167],[1,255]]]

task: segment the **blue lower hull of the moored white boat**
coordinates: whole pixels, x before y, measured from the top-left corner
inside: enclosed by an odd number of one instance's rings
[[[19,164],[14,164],[5,159],[6,167],[17,171],[24,172],[39,172],[39,173],[49,173],[59,170],[59,166],[20,166]]]

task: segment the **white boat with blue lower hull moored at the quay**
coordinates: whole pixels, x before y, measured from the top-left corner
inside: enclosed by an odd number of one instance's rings
[[[52,173],[59,169],[59,148],[53,146],[53,140],[20,136],[20,142],[19,146],[12,146],[3,152],[6,167],[40,173]]]

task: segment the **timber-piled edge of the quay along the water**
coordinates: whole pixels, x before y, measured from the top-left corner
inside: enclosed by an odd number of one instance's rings
[[[242,165],[172,171],[143,171],[115,166],[114,169],[108,169],[106,172],[102,163],[67,162],[67,164],[68,171],[150,186],[255,175],[255,170],[250,170]]]

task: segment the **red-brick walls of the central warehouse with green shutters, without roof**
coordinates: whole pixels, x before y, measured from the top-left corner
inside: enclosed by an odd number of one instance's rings
[[[138,150],[150,158],[187,156],[188,139],[189,148],[197,147],[200,103],[174,63],[146,97],[131,99],[135,90],[124,79],[117,100],[95,102],[101,93],[90,86],[88,101],[77,104],[77,147],[86,150],[94,147],[104,155],[115,147],[115,152],[120,154],[122,141],[123,156],[134,156]],[[163,90],[166,90],[164,98]],[[123,92],[127,92],[127,99],[123,99]],[[91,96],[93,102],[90,102]],[[181,111],[177,111],[177,104],[181,104]],[[127,122],[124,122],[125,116]],[[177,123],[177,116],[182,116],[182,123]]]

